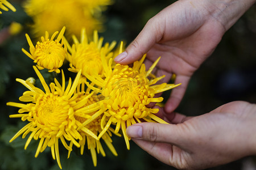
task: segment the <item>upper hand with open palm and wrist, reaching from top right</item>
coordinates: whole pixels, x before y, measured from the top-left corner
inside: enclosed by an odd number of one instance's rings
[[[253,2],[255,0],[177,1],[148,20],[115,62],[129,64],[147,53],[145,65],[148,68],[161,56],[155,74],[166,75],[164,82],[176,74],[175,83],[182,83],[172,90],[164,108],[166,113],[171,113],[183,98],[191,75]]]

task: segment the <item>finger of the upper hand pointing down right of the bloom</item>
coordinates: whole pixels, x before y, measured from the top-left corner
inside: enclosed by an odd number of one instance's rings
[[[189,79],[190,76],[177,75],[175,79],[175,84],[181,83],[181,85],[172,89],[171,95],[167,100],[166,105],[164,106],[164,111],[166,113],[174,112],[174,110],[180,104],[180,101],[183,98],[185,90],[188,86]]]

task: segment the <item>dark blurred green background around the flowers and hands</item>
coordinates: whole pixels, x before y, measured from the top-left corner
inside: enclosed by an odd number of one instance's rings
[[[16,12],[3,12],[0,15],[0,30],[12,21],[21,24],[31,22],[23,12],[20,1],[9,1]],[[141,31],[144,24],[164,7],[175,1],[157,0],[115,0],[105,15],[105,32],[100,33],[105,41],[125,40],[129,44]],[[23,52],[28,49],[25,27],[19,35],[11,36],[0,44],[0,169],[59,169],[52,160],[50,150],[34,158],[38,141],[31,142],[24,150],[26,139],[15,139],[13,135],[24,126],[19,118],[9,118],[17,108],[7,107],[7,101],[18,102],[19,96],[26,90],[15,78],[26,79],[35,76],[33,62]],[[1,39],[1,37],[0,37]],[[256,6],[250,8],[238,22],[225,33],[222,41],[207,61],[192,76],[187,92],[177,112],[196,116],[212,111],[214,108],[234,100],[256,103]],[[167,99],[170,92],[164,94]],[[148,155],[132,141],[126,150],[123,138],[114,137],[113,145],[118,152],[115,157],[105,147],[106,157],[98,155],[97,167],[93,167],[89,152],[83,156],[79,151],[72,152],[67,158],[67,151],[60,149],[63,169],[175,169],[160,163]],[[76,154],[77,153],[77,154]],[[210,169],[256,169],[253,156],[236,162]]]

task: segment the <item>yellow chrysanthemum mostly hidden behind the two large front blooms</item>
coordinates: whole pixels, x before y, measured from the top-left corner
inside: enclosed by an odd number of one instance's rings
[[[83,108],[83,107],[86,107],[87,105],[90,105],[90,104],[93,104],[93,103],[96,103],[97,101],[100,101],[101,97],[99,97],[99,95],[96,95],[94,94],[94,92],[90,93],[90,89],[87,88],[87,90],[85,91],[84,88],[85,88],[85,84],[84,83],[81,83],[81,89],[80,89],[80,86],[77,86],[77,92],[76,92],[76,95],[77,98],[76,98],[76,102],[80,102],[82,101],[82,105],[80,105],[80,108]],[[101,95],[100,95],[101,96]],[[77,108],[76,109],[80,109],[80,108]],[[81,122],[81,125],[84,121],[88,120],[88,118],[91,118],[93,113],[89,113],[89,114],[84,114],[84,113],[81,113],[81,114],[76,114],[75,115],[75,118],[77,121]],[[88,125],[85,126],[85,128],[87,129],[90,129],[94,134],[99,134],[102,129],[101,129],[101,125],[100,125],[100,122],[101,122],[101,116],[96,118],[95,120],[93,120],[92,122],[90,122]],[[113,129],[111,129],[112,131],[114,131]],[[87,133],[85,133],[84,131],[82,130],[79,130],[79,133],[80,135],[82,136],[82,139],[79,140],[79,144],[81,146],[81,155],[84,154],[84,147],[85,147],[85,143],[87,143],[87,147],[88,147],[88,150],[90,150],[90,153],[92,155],[92,160],[93,160],[93,164],[94,166],[97,165],[97,155],[96,155],[96,150],[97,150],[97,153],[100,154],[102,156],[105,156],[105,151],[101,145],[101,142],[96,140],[95,138],[93,138],[91,135],[88,135]],[[116,135],[119,135],[117,133],[115,133]],[[110,151],[112,151],[112,153],[117,156],[117,152],[115,151],[115,148],[114,146],[112,145],[112,139],[111,139],[111,135],[112,133],[110,132],[110,130],[108,130],[108,133],[105,133],[103,136],[102,136],[102,139],[104,140],[104,142],[106,143],[106,145],[109,147]],[[71,142],[70,143],[70,146],[72,148],[73,146],[73,143]],[[71,151],[69,151],[68,153],[68,157],[70,155]]]

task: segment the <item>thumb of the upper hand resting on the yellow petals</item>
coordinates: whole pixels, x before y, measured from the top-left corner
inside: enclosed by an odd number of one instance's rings
[[[116,63],[127,65],[137,61],[143,54],[146,54],[156,42],[162,39],[164,27],[160,27],[160,25],[163,24],[160,24],[159,22],[161,22],[161,20],[156,19],[156,17],[157,15],[148,20],[142,31],[126,48],[125,52],[115,57],[114,61]]]

